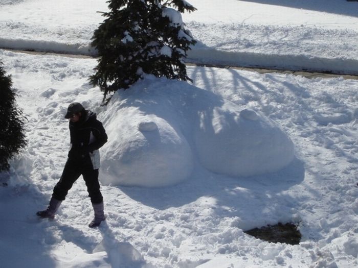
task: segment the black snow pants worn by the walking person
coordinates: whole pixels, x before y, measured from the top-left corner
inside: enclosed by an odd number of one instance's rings
[[[89,157],[85,159],[85,161],[67,160],[63,168],[61,179],[54,187],[52,196],[57,200],[64,200],[74,182],[81,175],[86,183],[91,202],[93,204],[102,203],[103,197],[98,182],[98,169],[93,169]]]

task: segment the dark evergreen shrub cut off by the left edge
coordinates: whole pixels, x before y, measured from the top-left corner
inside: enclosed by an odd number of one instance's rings
[[[23,113],[16,106],[12,81],[0,62],[0,171],[8,170],[8,160],[26,146]]]

